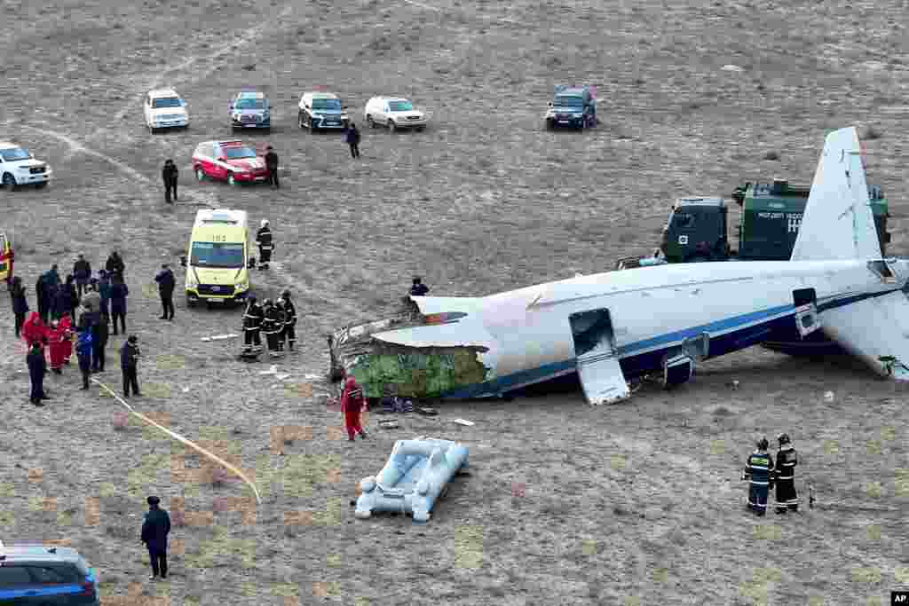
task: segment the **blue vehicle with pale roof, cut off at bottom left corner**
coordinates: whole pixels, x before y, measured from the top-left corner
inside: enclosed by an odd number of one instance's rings
[[[99,606],[95,571],[68,547],[0,543],[0,604]]]

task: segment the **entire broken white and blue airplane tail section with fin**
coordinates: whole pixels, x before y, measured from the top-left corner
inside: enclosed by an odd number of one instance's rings
[[[909,262],[882,259],[854,128],[827,135],[790,261],[685,263],[412,308],[329,338],[332,375],[369,397],[478,398],[577,373],[588,402],[667,387],[695,363],[822,330],[875,372],[909,381]],[[796,337],[797,338],[797,337]]]

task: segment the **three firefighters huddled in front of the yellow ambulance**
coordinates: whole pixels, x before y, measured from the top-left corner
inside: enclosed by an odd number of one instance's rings
[[[243,313],[244,349],[241,355],[255,360],[262,353],[262,334],[271,357],[280,356],[287,350],[293,352],[296,343],[296,307],[291,301],[290,291],[285,290],[276,302],[265,299],[258,304],[255,296],[246,301]]]

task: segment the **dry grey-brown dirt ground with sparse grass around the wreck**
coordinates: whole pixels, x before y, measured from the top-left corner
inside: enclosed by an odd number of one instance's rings
[[[574,384],[445,402],[396,430],[373,415],[371,439],[353,445],[337,439],[320,378],[325,334],[380,317],[414,273],[433,294],[482,295],[611,269],[652,250],[674,197],[728,196],[774,176],[807,183],[824,133],[844,125],[870,129],[869,181],[890,200],[891,253],[906,253],[904,1],[2,8],[18,20],[0,38],[0,139],[55,171],[43,191],[0,192],[29,303],[50,263],[85,253],[97,268],[120,250],[127,323],[145,354],[135,406],[236,457],[263,493],[254,512],[251,491],[215,482],[176,442],[118,427],[122,408],[80,392],[75,367],[49,378],[48,406],[32,407],[3,303],[3,540],[70,541],[98,569],[105,604],[870,605],[909,586],[906,388],[848,360],[755,348],[677,391],[646,384],[610,407],[588,407]],[[570,82],[597,86],[601,125],[547,133],[552,86]],[[146,132],[142,95],[161,85],[187,100],[187,131]],[[248,138],[281,155],[280,191],[190,173],[197,142],[231,136],[227,104],[245,86],[275,105],[273,132]],[[363,129],[355,162],[339,135],[296,127],[299,95],[317,86],[359,122],[373,94],[404,94],[432,123],[421,134]],[[175,207],[160,186],[167,157],[181,168]],[[239,310],[178,299],[174,323],[156,319],[148,283],[185,250],[205,205],[271,221],[278,263],[254,276],[255,293],[290,288],[301,315],[284,382],[235,361],[233,343],[201,341],[239,332]],[[114,387],[121,344],[112,339],[101,375]],[[283,425],[305,427],[273,444]],[[803,511],[758,521],[744,512],[740,469],[756,436],[783,431],[800,453]],[[356,482],[416,435],[469,445],[471,474],[426,525],[355,520]],[[145,581],[138,532],[151,493],[184,522],[167,583]]]

